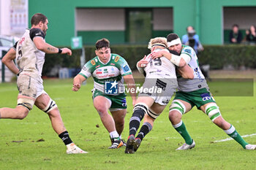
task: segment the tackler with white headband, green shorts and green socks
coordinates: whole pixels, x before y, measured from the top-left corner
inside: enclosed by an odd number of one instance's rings
[[[236,142],[244,147],[244,149],[256,150],[256,144],[248,144],[245,142],[236,131],[236,128],[224,120],[220,114],[219,107],[217,106],[213,96],[211,96],[205,77],[200,71],[195,50],[193,50],[192,47],[181,45],[181,40],[177,34],[169,34],[167,36],[167,44],[168,49],[170,51],[174,51],[176,55],[172,55],[170,53],[158,53],[155,54],[154,57],[157,58],[164,55],[166,58],[170,59],[170,61],[176,63],[176,65],[178,65],[177,63],[179,63],[181,58],[184,58],[194,73],[193,80],[177,77],[178,92],[170,106],[170,122],[185,140],[185,143],[181,147],[178,147],[177,150],[188,150],[195,147],[195,141],[191,136],[189,136],[186,126],[181,120],[182,115],[189,112],[189,110],[194,106],[205,112],[213,123],[218,125],[219,128],[222,128],[228,136],[235,139]],[[178,71],[180,71],[180,69],[182,70],[182,68],[178,68]]]

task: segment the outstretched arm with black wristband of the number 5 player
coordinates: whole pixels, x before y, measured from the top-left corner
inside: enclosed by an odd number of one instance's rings
[[[47,42],[45,42],[41,37],[34,37],[33,41],[37,49],[45,53],[48,53],[48,54],[61,53],[61,54],[72,55],[72,51],[69,50],[68,48],[64,47],[59,49],[57,47],[53,47],[52,45],[49,45]]]

